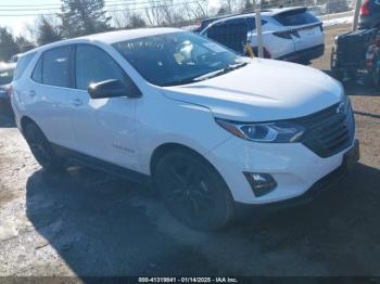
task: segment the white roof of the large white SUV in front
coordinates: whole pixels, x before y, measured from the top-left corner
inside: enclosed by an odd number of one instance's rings
[[[125,41],[125,40],[131,40],[131,39],[164,35],[164,34],[172,34],[172,33],[179,33],[179,31],[185,31],[185,30],[179,28],[159,27],[159,28],[137,28],[137,29],[106,31],[101,34],[78,37],[78,38],[64,39],[53,43],[41,46],[36,49],[29,50],[28,52],[23,53],[23,56],[28,55],[30,53],[38,52],[40,50],[47,50],[55,47],[61,47],[63,44],[69,44],[69,43],[74,44],[74,43],[81,43],[81,42],[85,43],[85,42],[98,41],[106,44],[112,44],[112,43]]]

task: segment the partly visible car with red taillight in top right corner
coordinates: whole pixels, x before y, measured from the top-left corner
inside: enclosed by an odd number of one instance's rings
[[[360,8],[359,28],[380,27],[380,2],[365,0]]]

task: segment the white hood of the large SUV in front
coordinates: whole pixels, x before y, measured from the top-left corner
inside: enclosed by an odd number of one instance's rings
[[[302,117],[338,103],[343,95],[341,85],[322,72],[262,59],[208,80],[162,90],[167,98],[202,105],[216,117],[239,121]]]

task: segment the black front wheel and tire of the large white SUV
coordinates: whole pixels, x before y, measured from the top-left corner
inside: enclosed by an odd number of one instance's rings
[[[169,152],[154,170],[154,182],[170,214],[190,229],[212,231],[233,215],[233,199],[220,175],[201,156]]]

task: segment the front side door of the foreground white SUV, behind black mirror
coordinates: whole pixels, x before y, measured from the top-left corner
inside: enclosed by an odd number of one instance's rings
[[[88,86],[109,79],[122,81],[131,92],[137,89],[117,62],[93,44],[77,44],[75,51],[75,100],[72,115],[79,152],[126,168],[135,168],[136,99],[92,100]]]

